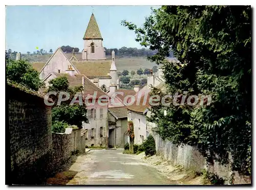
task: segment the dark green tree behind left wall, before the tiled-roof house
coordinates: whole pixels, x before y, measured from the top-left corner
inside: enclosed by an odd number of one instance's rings
[[[49,82],[48,91],[57,92],[56,96],[50,96],[50,98],[55,101],[54,106],[52,106],[53,122],[65,122],[69,125],[76,125],[79,128],[82,126],[82,122],[88,123],[86,105],[84,103],[82,103],[82,105],[79,105],[78,103],[70,105],[70,102],[74,98],[76,92],[82,92],[82,86],[74,88],[69,87],[67,77],[63,76],[52,79]],[[57,105],[56,102],[60,91],[69,92],[70,99],[61,102],[60,105]]]

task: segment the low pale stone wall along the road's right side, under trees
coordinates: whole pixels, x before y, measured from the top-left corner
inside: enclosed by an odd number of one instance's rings
[[[239,175],[238,172],[231,171],[229,164],[222,165],[219,162],[214,161],[212,165],[207,165],[205,158],[196,147],[174,145],[169,140],[163,140],[156,133],[153,133],[153,137],[156,143],[157,155],[161,155],[173,165],[181,165],[185,169],[192,169],[198,172],[205,169],[223,178],[225,183],[230,182],[229,180],[232,175],[234,184],[251,183],[250,179]]]

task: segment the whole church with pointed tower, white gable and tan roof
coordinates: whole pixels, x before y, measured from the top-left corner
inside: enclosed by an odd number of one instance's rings
[[[106,60],[103,38],[94,14],[91,15],[82,39],[84,47],[81,54],[75,54],[74,51],[72,55],[65,54],[58,47],[47,62],[31,62],[33,68],[40,73],[40,79],[45,80],[50,73],[65,73],[67,66],[72,65],[75,74],[85,75],[92,82],[97,81],[94,84],[104,91],[109,90],[113,80],[116,80],[118,89],[117,70],[113,69],[116,68],[115,52],[112,52],[111,60]]]

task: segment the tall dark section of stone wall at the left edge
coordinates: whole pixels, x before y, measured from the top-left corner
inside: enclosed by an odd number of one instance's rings
[[[7,91],[7,183],[35,184],[46,175],[51,157],[51,107],[41,97],[14,86],[8,85]]]

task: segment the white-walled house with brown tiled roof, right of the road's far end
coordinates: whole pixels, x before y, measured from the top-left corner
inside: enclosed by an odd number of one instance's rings
[[[166,92],[161,68],[159,68],[157,77],[153,75],[153,72],[151,75],[147,75],[147,85],[136,90],[134,103],[126,107],[128,110],[127,120],[133,121],[134,125],[134,144],[142,144],[151,133],[151,129],[155,127],[154,123],[150,123],[146,119],[147,116],[151,115],[148,111],[151,102],[154,103],[150,97],[152,87],[160,89],[163,93]]]

